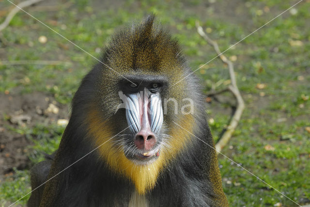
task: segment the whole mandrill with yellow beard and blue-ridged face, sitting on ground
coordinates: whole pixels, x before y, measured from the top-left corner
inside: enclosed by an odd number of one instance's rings
[[[177,41],[150,15],[100,60],[55,156],[31,170],[32,189],[42,186],[28,206],[227,207],[199,81]]]

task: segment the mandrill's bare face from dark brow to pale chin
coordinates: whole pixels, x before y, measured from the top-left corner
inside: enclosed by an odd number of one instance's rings
[[[160,75],[135,75],[120,83],[119,95],[124,102],[127,133],[121,143],[127,159],[137,164],[147,164],[160,156],[163,147],[163,107],[161,92],[167,80]]]

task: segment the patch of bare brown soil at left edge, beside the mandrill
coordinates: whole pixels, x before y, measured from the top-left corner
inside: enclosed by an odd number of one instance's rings
[[[52,123],[68,118],[66,105],[57,103],[50,95],[34,92],[23,95],[0,94],[0,178],[13,174],[13,168],[30,168],[28,148],[32,141],[22,128],[31,128],[37,123]],[[50,110],[50,104],[55,107]],[[57,109],[58,112],[57,112]],[[55,113],[57,112],[57,113]]]

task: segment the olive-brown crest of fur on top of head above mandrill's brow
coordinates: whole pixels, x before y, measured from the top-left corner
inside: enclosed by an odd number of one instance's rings
[[[183,65],[184,60],[179,54],[177,41],[154,23],[154,15],[149,15],[142,24],[116,33],[103,61],[119,73],[132,70],[166,73]]]

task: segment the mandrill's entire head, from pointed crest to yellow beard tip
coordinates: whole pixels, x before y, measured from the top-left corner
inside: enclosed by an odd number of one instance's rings
[[[177,41],[153,21],[151,15],[112,37],[72,110],[100,160],[140,194],[191,145],[203,105]]]

